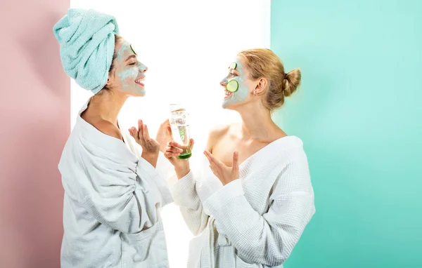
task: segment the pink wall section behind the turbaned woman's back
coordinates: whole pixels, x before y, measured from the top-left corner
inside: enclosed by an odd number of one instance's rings
[[[52,29],[69,5],[0,1],[0,267],[60,267],[70,80]]]

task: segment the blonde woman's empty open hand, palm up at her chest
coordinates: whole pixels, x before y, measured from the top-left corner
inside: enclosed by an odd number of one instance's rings
[[[223,185],[228,184],[239,178],[239,154],[238,152],[233,153],[233,163],[231,167],[226,166],[224,163],[215,158],[210,152],[205,151],[208,161],[210,161],[210,168],[212,173],[216,175]]]

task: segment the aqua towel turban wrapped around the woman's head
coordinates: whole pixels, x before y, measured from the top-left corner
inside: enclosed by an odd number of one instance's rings
[[[53,27],[68,76],[96,94],[106,86],[119,28],[111,15],[70,9]]]

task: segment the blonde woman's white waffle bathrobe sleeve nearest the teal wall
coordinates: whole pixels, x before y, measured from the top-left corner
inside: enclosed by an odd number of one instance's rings
[[[245,262],[269,267],[282,264],[314,214],[305,152],[286,163],[273,188],[269,209],[263,215],[245,198],[241,180],[224,185],[203,202],[205,213],[215,218],[219,233],[231,241]]]

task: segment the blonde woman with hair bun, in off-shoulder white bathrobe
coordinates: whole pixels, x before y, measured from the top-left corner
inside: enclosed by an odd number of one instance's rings
[[[300,84],[269,49],[242,51],[221,81],[224,109],[241,123],[210,132],[200,172],[165,156],[179,179],[174,203],[191,232],[188,267],[283,267],[312,215],[314,192],[302,141],[287,135],[271,112]],[[193,142],[192,142],[193,143]]]

